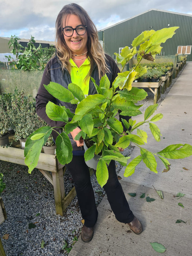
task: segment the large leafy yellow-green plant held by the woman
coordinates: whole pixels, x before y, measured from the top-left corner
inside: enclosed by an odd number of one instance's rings
[[[124,176],[128,177],[135,172],[136,166],[141,161],[151,171],[157,173],[155,157],[161,159],[166,169],[169,170],[170,163],[167,158],[178,159],[192,155],[192,146],[189,144],[170,145],[157,153],[152,153],[142,147],[147,142],[147,134],[139,127],[144,123],[149,124],[155,140],[160,140],[161,133],[154,122],[160,120],[163,115],[156,114],[151,117],[157,109],[157,104],[151,105],[146,109],[144,121],[142,122],[136,123],[132,119],[127,122],[122,119],[127,129],[125,134],[123,133],[122,123],[116,117],[118,111],[121,112],[121,116],[142,114],[139,110],[141,106],[135,105],[135,103],[146,98],[147,93],[143,89],[132,87],[133,80],[146,72],[146,67],[142,67],[139,63],[142,59],[153,61],[155,54],[161,52],[161,43],[171,38],[176,29],[178,27],[170,27],[158,31],[144,31],[133,40],[131,49],[126,46],[120,55],[115,53],[117,62],[122,65],[122,70],[118,73],[112,87],[110,87],[110,82],[106,75],[102,77],[99,85],[91,78],[97,89],[97,94],[95,95],[85,97],[80,87],[74,83],[70,83],[68,89],[54,82],[44,85],[46,90],[60,101],[76,104],[75,113],[71,113],[65,106],[58,106],[50,101],[46,105],[46,114],[50,119],[66,123],[65,127],[62,128],[63,132],[61,134],[58,133],[56,139],[56,155],[61,164],[65,165],[72,160],[72,146],[68,134],[76,127],[81,129],[75,138],[76,140],[82,137],[93,141],[93,145],[84,154],[85,161],[100,153],[98,155],[96,176],[101,187],[108,180],[107,166],[111,160],[118,161],[121,165],[126,166]],[[130,71],[123,72],[126,63],[135,54],[137,54],[138,63]],[[29,173],[37,166],[41,147],[55,128],[41,127],[27,139],[24,154]],[[132,134],[134,130],[137,130],[137,135]],[[121,154],[118,147],[127,148],[130,143],[140,147],[140,155],[128,163],[129,157]]]

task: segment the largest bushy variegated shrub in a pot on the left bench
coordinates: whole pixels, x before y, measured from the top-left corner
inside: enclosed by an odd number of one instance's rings
[[[15,131],[15,140],[19,140],[21,148],[25,148],[27,137],[39,127],[46,125],[40,117],[37,116],[35,110],[35,101],[31,101],[31,96],[24,95],[15,89],[12,94],[11,104],[7,108],[8,116],[11,119],[12,127]]]

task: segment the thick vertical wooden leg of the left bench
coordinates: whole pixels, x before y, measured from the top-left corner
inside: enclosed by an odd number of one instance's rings
[[[63,199],[65,197],[64,189],[64,179],[63,179],[63,168],[58,170],[58,172],[52,172],[53,177],[53,188],[54,188],[54,198],[55,198],[55,208],[56,213],[63,215]]]

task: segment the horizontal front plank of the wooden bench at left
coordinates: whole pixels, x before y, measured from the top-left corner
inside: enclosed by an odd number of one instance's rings
[[[24,150],[21,148],[0,147],[0,160],[17,163],[19,165],[26,165]],[[39,161],[37,164],[38,169],[43,169],[50,172],[57,172],[58,167],[60,168],[61,164],[57,161],[56,155],[40,153]]]

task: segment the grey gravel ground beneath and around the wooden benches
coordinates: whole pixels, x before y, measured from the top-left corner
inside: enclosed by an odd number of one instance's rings
[[[158,105],[175,81],[173,79],[171,86],[161,94]],[[147,98],[139,102],[143,104],[142,111],[153,104],[153,93],[150,90],[147,93]],[[129,146],[123,154],[130,155],[132,150],[133,147]],[[116,162],[117,174],[121,167]],[[7,220],[0,225],[0,237],[6,255],[68,255],[83,226],[77,198],[72,200],[64,216],[57,215],[53,187],[37,169],[29,174],[26,166],[0,161],[0,172],[3,173],[6,184],[1,196]],[[105,192],[98,185],[94,174],[91,182],[98,205]],[[65,172],[64,185],[66,194],[74,185],[68,170]],[[2,238],[5,234],[8,234],[8,239]]]

